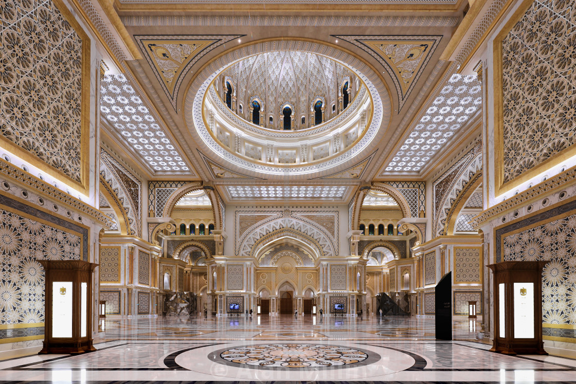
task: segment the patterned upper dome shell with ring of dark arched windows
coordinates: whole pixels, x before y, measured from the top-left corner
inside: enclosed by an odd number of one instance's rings
[[[306,129],[342,112],[361,87],[353,71],[309,52],[269,52],[232,64],[214,83],[226,107],[260,127]]]

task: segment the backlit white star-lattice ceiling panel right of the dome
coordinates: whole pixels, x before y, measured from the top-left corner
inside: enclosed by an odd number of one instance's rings
[[[453,74],[400,146],[385,172],[419,172],[444,149],[482,106],[482,87],[476,75]],[[382,172],[380,176],[384,176]]]

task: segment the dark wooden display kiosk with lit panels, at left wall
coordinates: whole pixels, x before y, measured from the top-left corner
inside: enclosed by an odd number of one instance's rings
[[[39,260],[46,271],[44,346],[40,353],[84,353],[92,345],[92,273],[98,264]]]

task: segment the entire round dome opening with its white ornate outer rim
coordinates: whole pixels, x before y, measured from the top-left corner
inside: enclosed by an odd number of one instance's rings
[[[391,111],[370,67],[304,41],[231,51],[196,77],[184,107],[200,155],[219,169],[256,177],[346,169],[374,151]]]

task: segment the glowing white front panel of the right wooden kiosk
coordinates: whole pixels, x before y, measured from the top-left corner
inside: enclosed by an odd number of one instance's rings
[[[514,339],[534,339],[534,283],[514,283]]]

